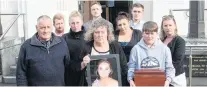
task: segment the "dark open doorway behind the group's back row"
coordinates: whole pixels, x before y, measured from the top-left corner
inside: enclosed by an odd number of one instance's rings
[[[99,0],[94,0],[99,1]],[[84,15],[84,22],[92,19],[90,6],[94,1],[80,1],[81,6],[79,8],[80,12]],[[125,11],[130,13],[130,7],[133,4],[133,1],[99,1],[102,5],[102,17],[106,20],[110,21],[113,26],[114,30],[116,30],[116,17],[118,12]]]

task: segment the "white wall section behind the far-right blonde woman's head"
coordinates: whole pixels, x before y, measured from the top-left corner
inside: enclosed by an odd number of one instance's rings
[[[189,0],[153,0],[153,21],[161,27],[162,16],[169,15],[173,9],[189,9]],[[174,18],[177,22],[178,34],[187,36],[188,17],[185,12],[173,11]]]

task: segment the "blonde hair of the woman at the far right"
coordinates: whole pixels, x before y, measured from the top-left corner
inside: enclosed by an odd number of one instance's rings
[[[161,32],[160,32],[160,39],[161,40],[164,40],[164,38],[166,37],[166,34],[164,32],[164,29],[163,29],[163,22],[166,21],[166,20],[173,20],[173,22],[175,23],[175,36],[177,36],[177,32],[178,32],[178,29],[177,29],[177,25],[176,25],[176,21],[174,19],[174,16],[173,15],[165,15],[162,17],[162,24],[161,24]]]

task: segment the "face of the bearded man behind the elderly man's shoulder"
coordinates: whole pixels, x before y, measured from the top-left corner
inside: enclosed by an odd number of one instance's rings
[[[63,19],[55,19],[54,27],[57,31],[63,32],[64,31],[64,20]]]

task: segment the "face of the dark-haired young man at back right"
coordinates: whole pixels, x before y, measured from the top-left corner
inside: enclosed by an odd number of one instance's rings
[[[144,9],[141,7],[133,7],[132,8],[132,17],[133,20],[140,20],[144,14]]]

